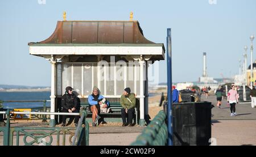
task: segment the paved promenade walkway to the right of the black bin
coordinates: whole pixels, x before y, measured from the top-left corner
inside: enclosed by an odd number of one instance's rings
[[[221,109],[216,107],[215,96],[209,96],[202,101],[210,101],[215,106],[212,109],[212,138],[216,139],[218,146],[256,146],[256,108],[251,108],[250,103],[236,105],[236,117],[230,116],[227,101],[222,101]]]

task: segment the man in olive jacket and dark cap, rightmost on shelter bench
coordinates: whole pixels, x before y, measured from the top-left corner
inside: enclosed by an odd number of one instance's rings
[[[135,94],[131,94],[131,89],[129,87],[125,88],[123,95],[120,99],[120,104],[122,105],[121,114],[122,114],[122,126],[133,126],[133,115],[135,112]],[[128,121],[126,121],[126,117]]]

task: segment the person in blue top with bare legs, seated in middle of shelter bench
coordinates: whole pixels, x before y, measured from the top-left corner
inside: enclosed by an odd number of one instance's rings
[[[93,87],[93,93],[92,95],[88,96],[88,103],[89,103],[89,108],[90,111],[92,111],[92,126],[96,126],[96,120],[99,121],[101,119],[101,117],[99,116],[100,114],[100,105],[101,100],[104,99],[104,96],[99,94],[99,90],[97,87]],[[103,108],[108,108],[109,106],[109,102],[107,101],[107,103],[105,104],[105,106]],[[100,122],[98,122],[98,124],[100,124]],[[102,119],[102,124],[106,124],[106,122]]]

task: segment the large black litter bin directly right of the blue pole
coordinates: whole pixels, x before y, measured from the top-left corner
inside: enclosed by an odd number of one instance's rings
[[[174,146],[209,146],[212,103],[174,103],[172,105]]]

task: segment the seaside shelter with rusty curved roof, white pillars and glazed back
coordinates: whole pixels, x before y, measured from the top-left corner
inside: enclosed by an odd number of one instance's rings
[[[81,102],[97,86],[110,103],[130,87],[139,99],[139,125],[146,124],[148,62],[164,60],[165,49],[143,36],[138,21],[58,21],[48,39],[28,46],[31,55],[51,63],[51,112],[58,112],[67,86]],[[51,116],[50,125],[55,124]]]

